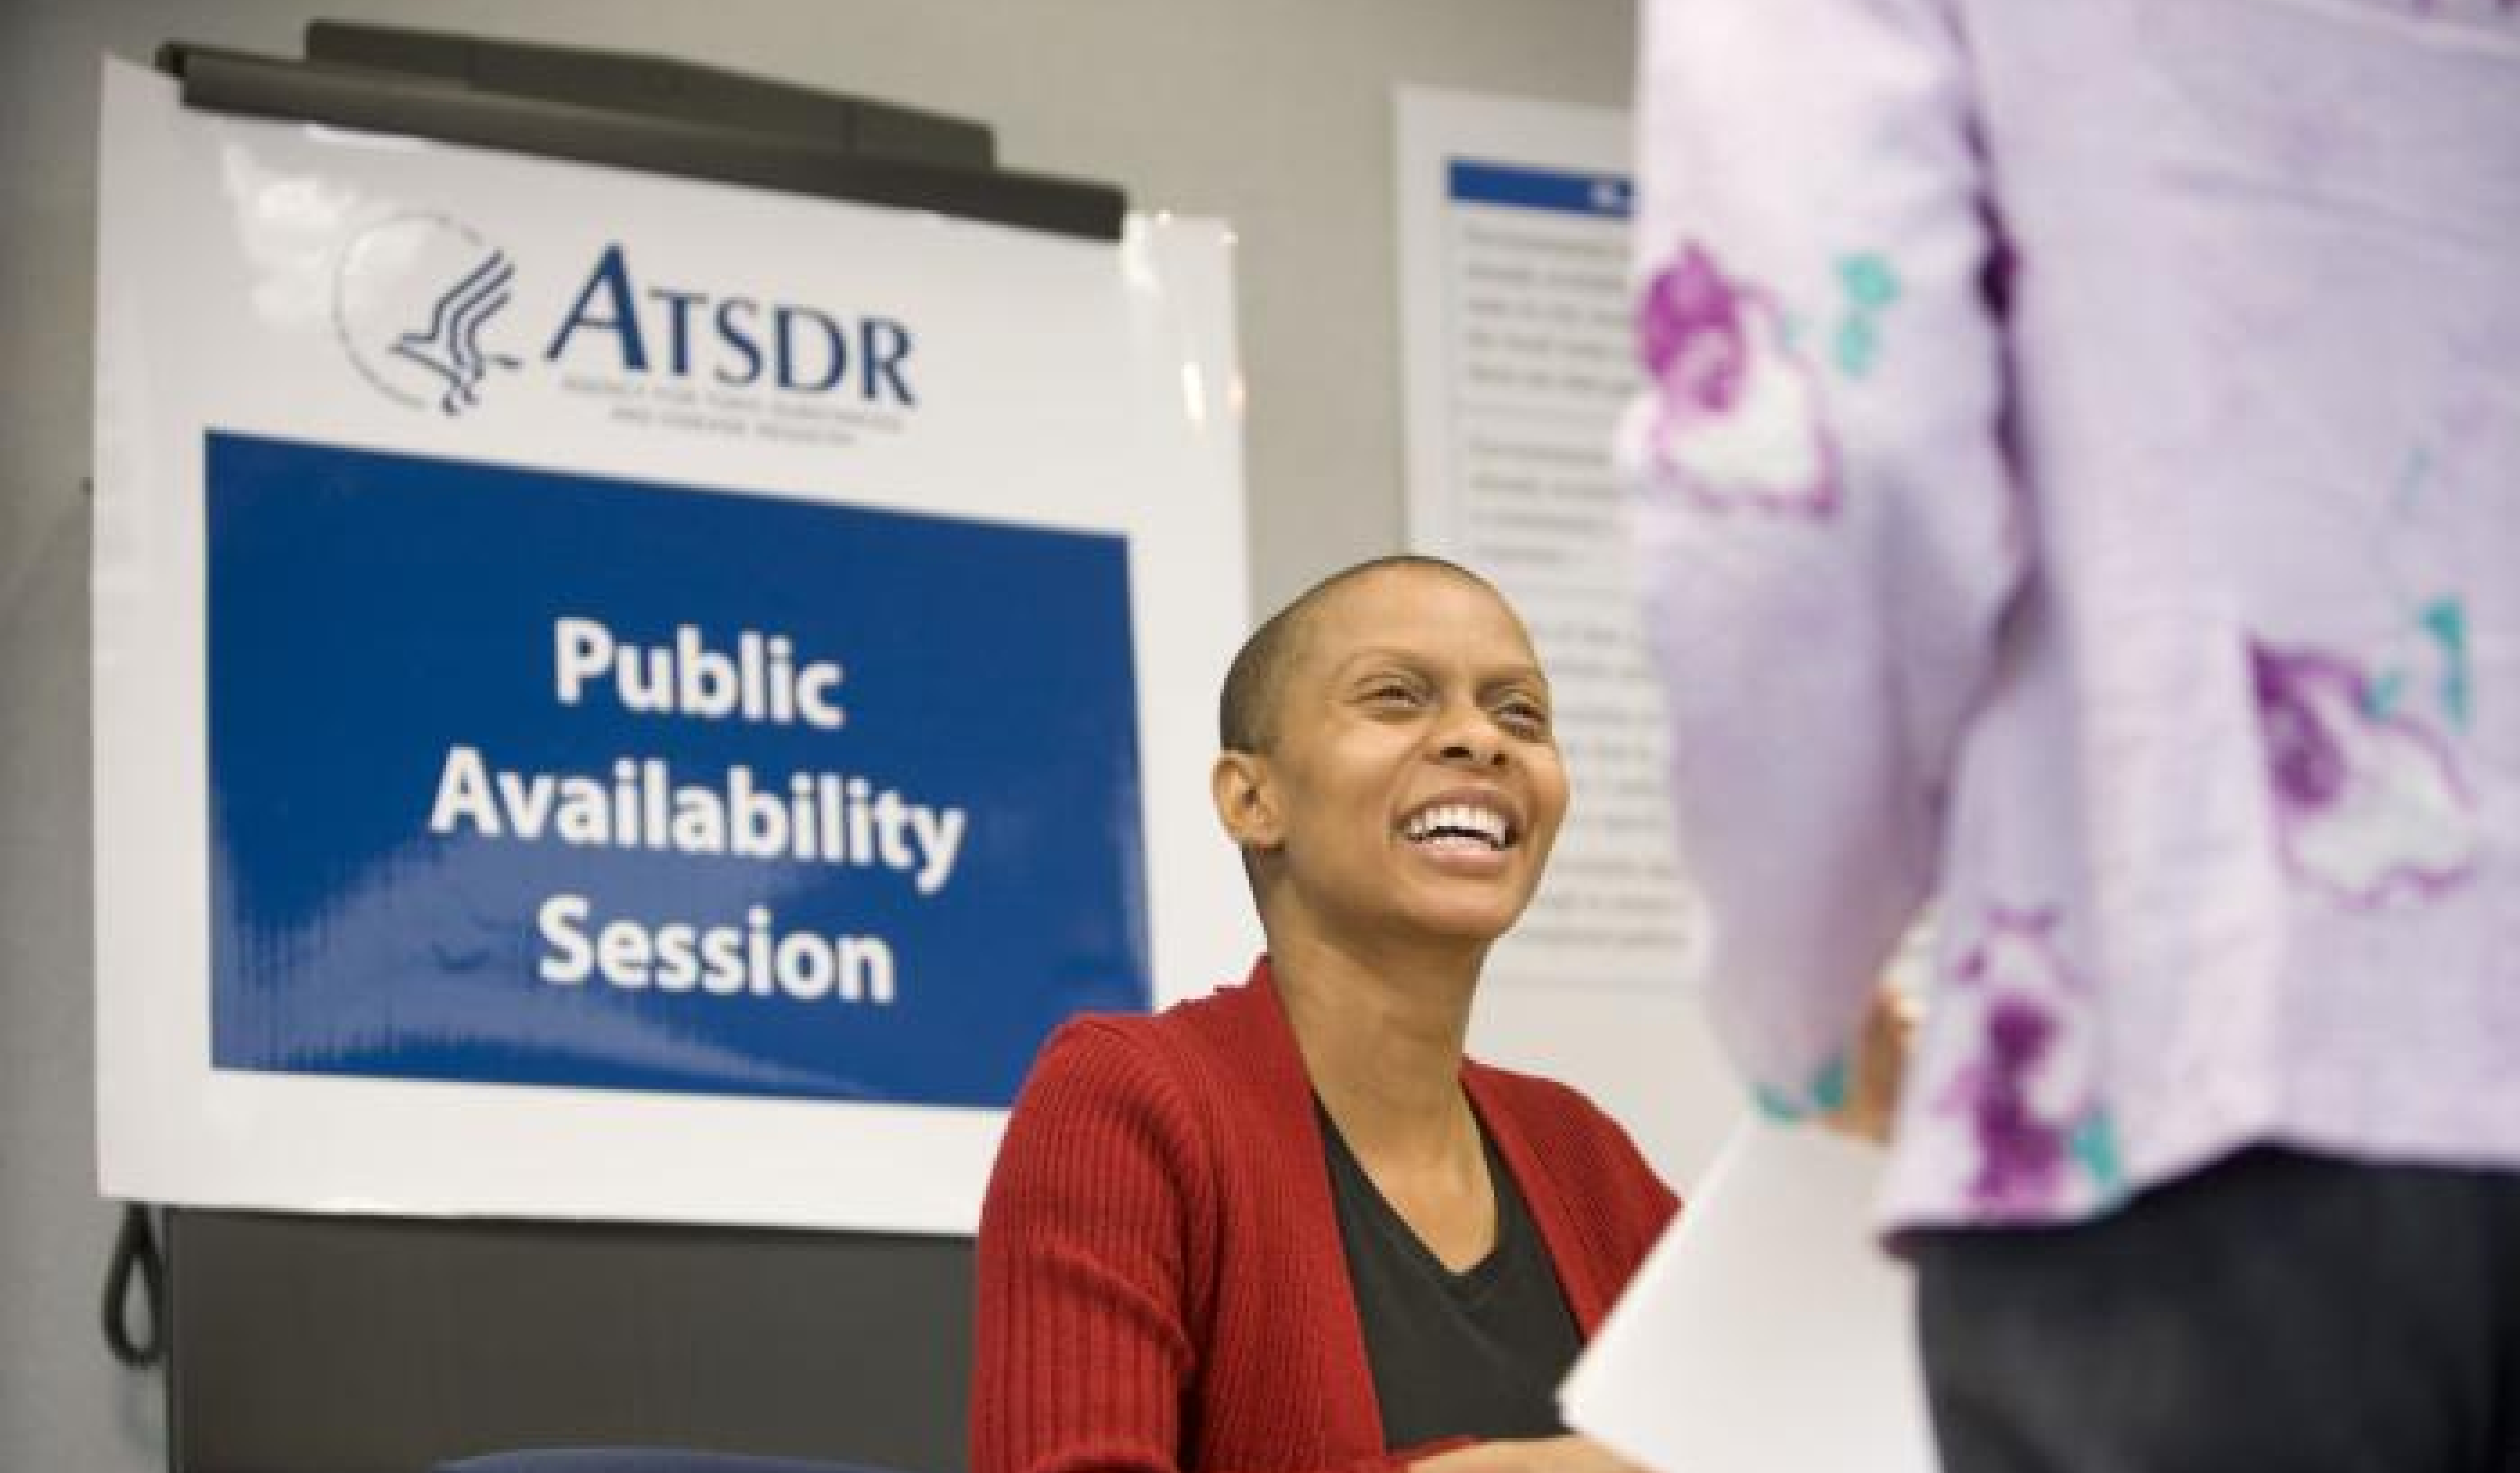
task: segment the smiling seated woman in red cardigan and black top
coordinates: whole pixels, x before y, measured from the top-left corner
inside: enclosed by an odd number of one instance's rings
[[[973,1470],[1620,1468],[1555,1387],[1678,1203],[1583,1095],[1462,1052],[1567,810],[1522,620],[1351,568],[1252,633],[1220,736],[1268,956],[1043,1047],[980,1218]]]

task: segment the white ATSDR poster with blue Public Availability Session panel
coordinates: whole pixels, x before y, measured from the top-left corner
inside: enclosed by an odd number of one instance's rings
[[[108,63],[98,1178],[970,1231],[1255,951],[1230,237],[186,111]],[[1162,691],[1164,699],[1154,699]]]

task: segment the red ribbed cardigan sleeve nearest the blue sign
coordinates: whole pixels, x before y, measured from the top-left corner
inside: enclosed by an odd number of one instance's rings
[[[1217,1349],[1222,1173],[1152,1054],[1109,1022],[1074,1022],[1008,1120],[980,1208],[973,1473],[1184,1468],[1200,1365]],[[1288,1425],[1305,1420],[1285,1410]],[[1343,1473],[1394,1465],[1363,1458]]]

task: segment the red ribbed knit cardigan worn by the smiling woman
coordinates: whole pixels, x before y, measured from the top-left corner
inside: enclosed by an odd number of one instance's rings
[[[1590,1339],[1678,1198],[1565,1085],[1462,1064]],[[980,1211],[973,1473],[1376,1470],[1313,1087],[1268,961],[1041,1049]]]

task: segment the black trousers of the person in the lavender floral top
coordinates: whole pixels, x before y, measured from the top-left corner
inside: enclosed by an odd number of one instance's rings
[[[2250,1150],[1910,1246],[1943,1473],[2520,1473],[2520,1173]]]

